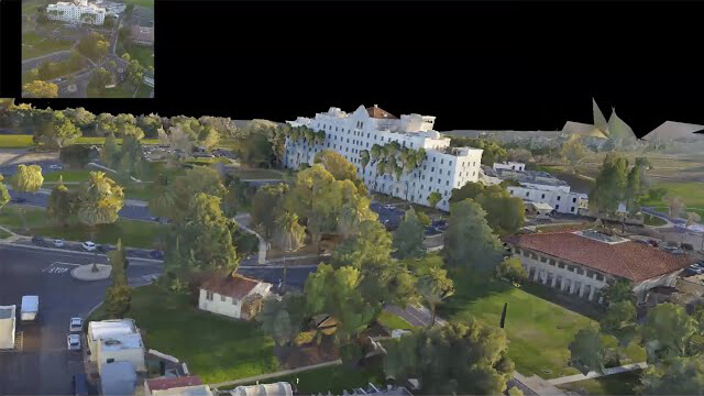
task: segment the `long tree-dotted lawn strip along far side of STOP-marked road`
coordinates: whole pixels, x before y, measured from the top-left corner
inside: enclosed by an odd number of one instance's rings
[[[72,222],[67,228],[56,226],[47,219],[43,208],[25,207],[26,222],[30,229],[29,235],[42,235],[45,238],[61,238],[68,241],[92,240],[90,230],[77,222]],[[24,226],[20,207],[11,205],[0,211],[0,226],[18,232],[24,233]],[[166,224],[153,222],[120,219],[113,224],[99,226],[94,242],[116,244],[121,238],[127,246],[131,248],[155,248],[161,235],[168,230]]]

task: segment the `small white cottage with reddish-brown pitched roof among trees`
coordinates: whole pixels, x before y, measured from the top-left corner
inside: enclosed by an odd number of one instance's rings
[[[252,319],[262,309],[272,284],[239,274],[211,275],[200,284],[198,308],[235,319]]]

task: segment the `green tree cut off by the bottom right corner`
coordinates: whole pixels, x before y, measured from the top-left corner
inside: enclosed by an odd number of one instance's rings
[[[640,381],[642,395],[701,395],[704,356],[676,358],[669,364],[650,365]]]

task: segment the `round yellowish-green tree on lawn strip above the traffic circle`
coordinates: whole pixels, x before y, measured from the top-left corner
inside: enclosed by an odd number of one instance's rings
[[[91,172],[78,193],[78,221],[94,229],[98,224],[111,224],[124,204],[124,193],[114,180],[102,172]]]

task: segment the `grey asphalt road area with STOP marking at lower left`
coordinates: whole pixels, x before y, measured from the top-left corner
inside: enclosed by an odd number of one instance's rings
[[[84,371],[79,353],[66,349],[68,320],[86,318],[110,280],[81,282],[69,271],[92,256],[0,245],[0,305],[20,305],[23,295],[40,296],[35,323],[18,323],[23,350],[0,353],[0,395],[67,395],[72,375]],[[150,283],[161,265],[132,261],[132,286]],[[18,307],[19,309],[19,307]]]

